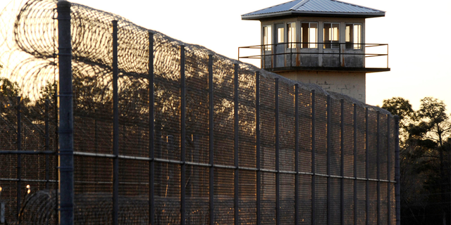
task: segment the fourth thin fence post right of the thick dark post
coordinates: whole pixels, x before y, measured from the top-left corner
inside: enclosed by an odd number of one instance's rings
[[[209,221],[214,225],[214,86],[213,55],[209,55]]]

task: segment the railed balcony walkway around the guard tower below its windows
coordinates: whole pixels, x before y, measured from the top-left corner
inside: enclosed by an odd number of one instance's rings
[[[259,59],[271,72],[342,71],[386,72],[388,44],[285,42],[238,48],[238,60]]]

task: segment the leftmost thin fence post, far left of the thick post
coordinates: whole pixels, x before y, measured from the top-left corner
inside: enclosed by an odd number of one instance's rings
[[[17,96],[17,150],[22,150],[22,122],[21,122],[21,108],[20,108],[20,99],[22,96]],[[21,193],[20,189],[22,186],[22,156],[17,154],[17,221],[19,221],[20,216],[20,202],[21,202]]]

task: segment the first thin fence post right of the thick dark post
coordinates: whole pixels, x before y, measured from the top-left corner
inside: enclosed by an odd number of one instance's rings
[[[113,225],[119,224],[119,99],[118,99],[118,20],[113,25]]]

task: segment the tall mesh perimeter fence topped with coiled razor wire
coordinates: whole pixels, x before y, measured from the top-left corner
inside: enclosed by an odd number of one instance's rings
[[[399,224],[397,117],[56,3],[1,12],[0,224]]]

